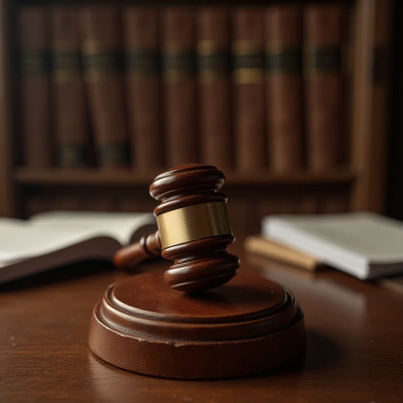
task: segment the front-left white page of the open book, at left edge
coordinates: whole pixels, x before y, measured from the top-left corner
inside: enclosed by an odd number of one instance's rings
[[[50,253],[87,239],[95,238],[94,231],[46,230],[6,223],[0,224],[0,267],[11,261]]]

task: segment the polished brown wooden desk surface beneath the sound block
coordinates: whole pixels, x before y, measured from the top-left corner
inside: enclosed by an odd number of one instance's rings
[[[264,260],[255,267],[241,241],[233,246],[241,270],[281,282],[297,297],[308,332],[303,363],[265,376],[211,382],[114,368],[89,351],[88,324],[106,287],[127,274],[81,264],[0,289],[0,401],[403,401],[403,298],[339,272],[312,276]]]

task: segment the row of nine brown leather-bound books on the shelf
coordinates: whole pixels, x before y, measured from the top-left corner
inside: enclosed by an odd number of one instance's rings
[[[21,7],[23,163],[343,164],[342,3]]]

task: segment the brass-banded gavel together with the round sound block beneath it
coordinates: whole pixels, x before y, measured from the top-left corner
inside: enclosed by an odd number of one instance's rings
[[[265,372],[303,354],[303,313],[294,296],[237,274],[239,259],[226,251],[235,238],[227,198],[218,192],[223,183],[222,172],[201,164],[155,178],[159,232],[134,246],[135,259],[161,250],[174,264],[165,274],[133,276],[106,290],[89,333],[100,358],[147,375],[215,379]],[[132,251],[115,261],[133,260]]]

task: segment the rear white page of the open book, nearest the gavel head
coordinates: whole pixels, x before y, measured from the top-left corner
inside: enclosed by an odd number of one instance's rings
[[[121,245],[127,245],[133,232],[156,221],[152,213],[53,211],[36,214],[29,222],[35,229],[90,230],[93,236],[110,236]]]

